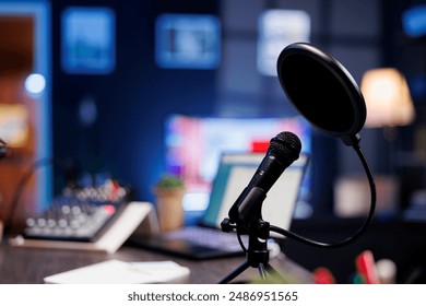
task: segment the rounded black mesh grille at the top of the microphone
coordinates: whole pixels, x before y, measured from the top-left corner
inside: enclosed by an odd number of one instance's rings
[[[269,150],[280,158],[280,161],[291,161],[293,163],[299,157],[301,150],[300,139],[292,132],[281,132],[271,139]]]

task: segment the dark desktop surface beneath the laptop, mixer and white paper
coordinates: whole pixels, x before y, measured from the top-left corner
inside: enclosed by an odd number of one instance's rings
[[[190,269],[191,272],[186,282],[194,284],[217,283],[245,261],[244,257],[191,261],[127,245],[122,246],[117,252],[109,255],[97,251],[21,248],[12,247],[3,242],[0,245],[0,283],[40,284],[44,283],[43,279],[47,275],[108,259],[119,259],[128,262],[174,260]],[[280,273],[297,275],[295,279],[297,283],[309,282],[309,274],[306,270],[285,257],[272,259],[271,264]],[[258,278],[258,272],[250,268],[235,281],[252,280],[253,278]]]

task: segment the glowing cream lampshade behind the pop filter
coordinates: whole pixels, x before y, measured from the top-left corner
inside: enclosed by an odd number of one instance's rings
[[[360,91],[367,107],[366,127],[407,126],[414,120],[414,106],[404,75],[397,69],[365,72]]]

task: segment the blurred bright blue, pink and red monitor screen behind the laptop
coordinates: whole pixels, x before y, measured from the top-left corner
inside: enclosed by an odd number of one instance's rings
[[[166,120],[166,170],[186,184],[185,210],[204,210],[223,153],[265,153],[282,131],[299,137],[311,151],[310,128],[301,117],[220,118],[173,115]]]

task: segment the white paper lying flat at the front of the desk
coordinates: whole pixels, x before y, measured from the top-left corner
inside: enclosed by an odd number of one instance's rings
[[[177,283],[190,271],[174,261],[126,262],[117,259],[46,276],[47,284]]]

